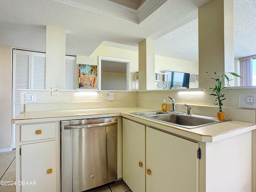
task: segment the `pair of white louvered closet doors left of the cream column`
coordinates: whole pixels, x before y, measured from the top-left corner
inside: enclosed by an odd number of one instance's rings
[[[13,50],[12,118],[20,114],[20,89],[45,89],[45,53]],[[12,124],[12,148],[15,125]]]

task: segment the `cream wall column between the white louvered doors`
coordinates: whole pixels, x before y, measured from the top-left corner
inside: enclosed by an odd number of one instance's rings
[[[65,54],[66,30],[46,26],[46,89],[65,89]]]

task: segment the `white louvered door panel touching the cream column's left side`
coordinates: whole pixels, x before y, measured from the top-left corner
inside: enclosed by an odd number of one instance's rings
[[[45,53],[31,52],[32,89],[45,89]]]

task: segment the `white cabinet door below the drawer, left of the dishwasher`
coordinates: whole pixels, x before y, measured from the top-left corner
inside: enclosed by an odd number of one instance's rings
[[[21,146],[22,192],[56,192],[55,141]]]

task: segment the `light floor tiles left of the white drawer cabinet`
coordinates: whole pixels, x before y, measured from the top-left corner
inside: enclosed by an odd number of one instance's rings
[[[0,153],[0,182],[16,180],[16,151]],[[1,185],[0,192],[16,192],[15,185]]]

